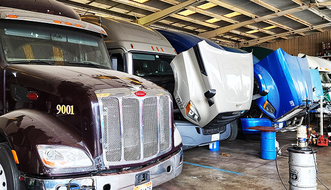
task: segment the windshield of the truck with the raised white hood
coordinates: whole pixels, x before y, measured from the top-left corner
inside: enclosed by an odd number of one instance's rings
[[[151,53],[131,53],[133,54],[133,71],[135,75],[173,75],[170,63],[175,56]]]

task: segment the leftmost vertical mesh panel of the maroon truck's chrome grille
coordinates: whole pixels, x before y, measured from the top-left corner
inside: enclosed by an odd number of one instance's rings
[[[104,97],[102,101],[104,128],[104,149],[108,162],[121,161],[120,107],[117,98]]]

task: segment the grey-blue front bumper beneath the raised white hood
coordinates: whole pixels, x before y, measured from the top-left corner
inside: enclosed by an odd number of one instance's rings
[[[203,146],[215,142],[211,140],[212,135],[204,135],[203,129],[200,126],[191,122],[175,121],[183,141],[183,149],[193,148],[195,146]],[[226,125],[224,133],[219,133],[219,140],[225,140],[230,136],[230,123]]]

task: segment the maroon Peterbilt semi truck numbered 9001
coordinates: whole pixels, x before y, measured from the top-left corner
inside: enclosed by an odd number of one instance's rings
[[[169,92],[113,71],[102,36],[54,0],[0,0],[0,189],[151,189],[181,173]]]

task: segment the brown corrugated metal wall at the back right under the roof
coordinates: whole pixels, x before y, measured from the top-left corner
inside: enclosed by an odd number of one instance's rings
[[[322,52],[322,42],[331,43],[331,31],[292,38],[289,40],[266,43],[262,44],[261,46],[274,50],[282,48],[288,54],[293,54],[295,56],[298,53],[305,53],[307,55],[316,56],[318,52]],[[331,50],[328,50],[327,52],[331,53]]]

